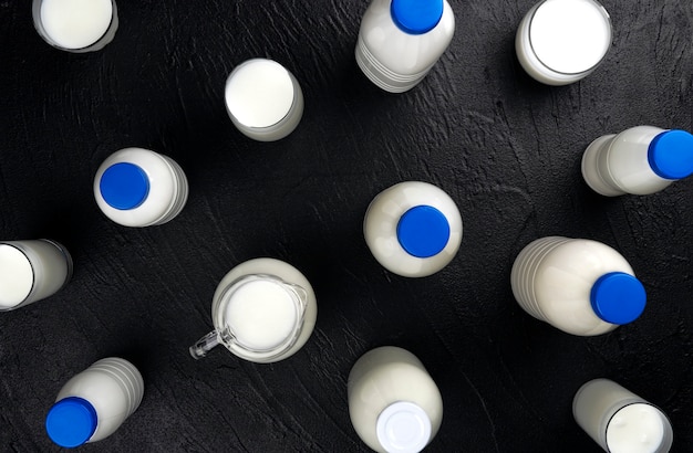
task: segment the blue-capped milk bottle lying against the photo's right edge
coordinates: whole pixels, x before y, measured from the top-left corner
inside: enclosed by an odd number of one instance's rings
[[[635,126],[592,141],[582,155],[582,177],[596,192],[650,194],[693,175],[693,135]]]

